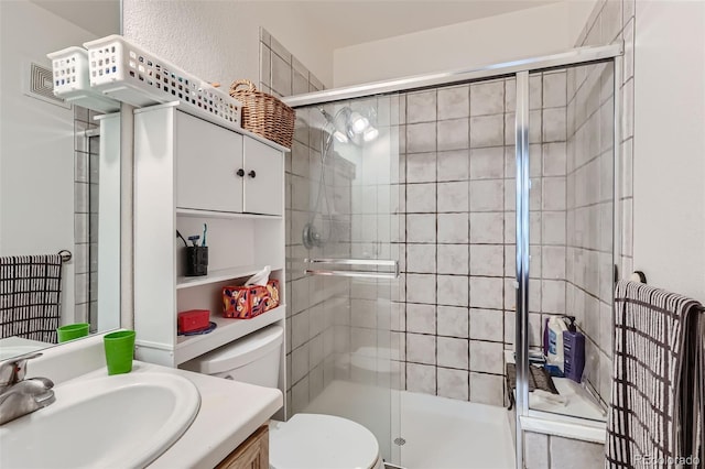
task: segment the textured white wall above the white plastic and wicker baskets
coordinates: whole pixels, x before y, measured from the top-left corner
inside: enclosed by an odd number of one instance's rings
[[[333,48],[296,2],[124,0],[123,34],[148,51],[224,87],[259,81],[259,28],[276,37],[326,86]]]

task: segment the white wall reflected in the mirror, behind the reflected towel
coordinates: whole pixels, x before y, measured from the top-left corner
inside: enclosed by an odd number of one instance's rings
[[[0,1],[0,255],[73,251],[74,111],[24,96],[24,72],[95,36],[24,0]],[[62,275],[73,319],[73,264]]]

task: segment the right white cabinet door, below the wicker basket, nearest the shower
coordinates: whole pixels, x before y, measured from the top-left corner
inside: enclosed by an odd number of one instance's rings
[[[245,138],[245,211],[282,215],[284,157],[251,138]]]

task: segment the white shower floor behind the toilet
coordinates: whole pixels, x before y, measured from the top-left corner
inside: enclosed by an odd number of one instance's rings
[[[355,419],[378,438],[403,438],[401,447],[379,443],[380,448],[393,448],[392,455],[383,455],[388,462],[406,469],[514,468],[514,446],[503,407],[406,391],[390,395],[389,390],[336,380],[305,412]]]

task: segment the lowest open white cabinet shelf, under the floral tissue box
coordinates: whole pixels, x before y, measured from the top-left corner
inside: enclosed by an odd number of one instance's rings
[[[247,336],[264,326],[284,319],[286,305],[279,305],[274,309],[262,313],[251,319],[230,319],[223,316],[212,316],[210,320],[217,327],[209,334],[202,336],[178,336],[174,361],[176,364],[209,352],[220,346]]]

